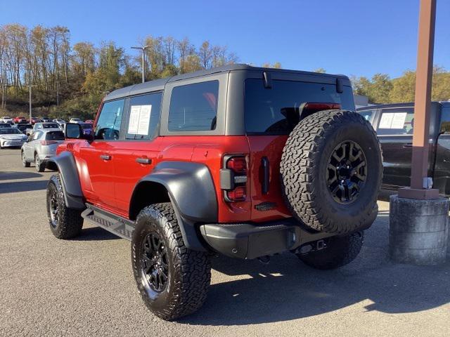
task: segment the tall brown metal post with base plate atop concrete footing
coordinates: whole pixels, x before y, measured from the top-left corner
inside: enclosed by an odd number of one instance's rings
[[[435,199],[437,190],[428,182],[428,138],[430,131],[431,83],[435,41],[436,0],[420,0],[416,98],[414,104],[411,187],[399,189],[399,197]]]

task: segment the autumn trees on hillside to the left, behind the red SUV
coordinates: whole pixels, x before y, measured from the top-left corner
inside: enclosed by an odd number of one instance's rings
[[[141,45],[148,46],[146,81],[238,61],[207,40],[195,46],[187,37],[148,36]],[[72,45],[68,27],[0,26],[0,110],[27,111],[31,84],[34,114],[91,118],[105,93],[141,82],[141,53],[130,53],[113,41]]]

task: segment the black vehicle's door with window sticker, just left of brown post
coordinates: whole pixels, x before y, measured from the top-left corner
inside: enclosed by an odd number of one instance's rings
[[[409,186],[413,150],[413,107],[381,110],[377,135],[383,150],[383,187]]]

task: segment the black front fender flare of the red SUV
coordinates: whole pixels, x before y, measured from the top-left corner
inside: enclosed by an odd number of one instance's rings
[[[58,156],[49,158],[46,161],[46,168],[58,170],[63,185],[65,206],[70,209],[85,209],[77,164],[72,152],[63,151]]]

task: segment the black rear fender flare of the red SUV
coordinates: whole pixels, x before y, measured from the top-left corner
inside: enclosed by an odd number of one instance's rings
[[[186,246],[206,251],[195,223],[217,223],[218,209],[214,183],[207,166],[191,161],[163,161],[134,187],[130,212],[136,190],[149,182],[162,185],[167,190]]]

